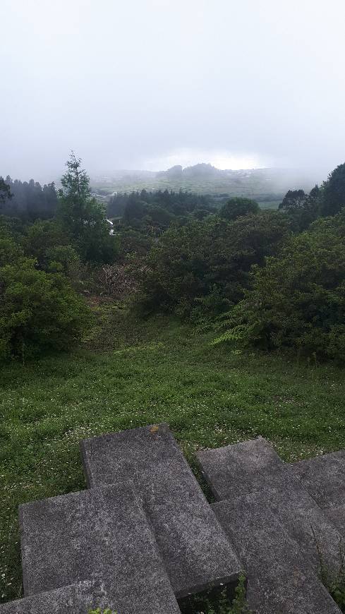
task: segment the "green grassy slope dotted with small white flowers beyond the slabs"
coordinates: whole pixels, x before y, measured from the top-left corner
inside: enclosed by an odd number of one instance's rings
[[[212,335],[164,317],[109,314],[97,351],[89,339],[71,356],[1,371],[2,601],[21,591],[18,503],[85,488],[84,437],[167,421],[192,464],[198,447],[257,435],[286,460],[345,445],[344,371],[210,347]]]

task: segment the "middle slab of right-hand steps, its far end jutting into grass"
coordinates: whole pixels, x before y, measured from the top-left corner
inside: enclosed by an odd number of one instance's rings
[[[316,571],[321,555],[330,572],[339,571],[340,532],[266,440],[203,450],[198,459],[218,497],[256,493],[262,509],[268,508],[298,543],[305,563]]]

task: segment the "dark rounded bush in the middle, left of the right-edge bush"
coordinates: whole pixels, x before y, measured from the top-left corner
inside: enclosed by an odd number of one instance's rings
[[[141,300],[148,311],[178,313],[190,313],[195,299],[209,295],[209,309],[212,301],[216,311],[236,303],[248,287],[251,265],[275,253],[288,232],[289,222],[275,212],[172,226],[147,255]]]

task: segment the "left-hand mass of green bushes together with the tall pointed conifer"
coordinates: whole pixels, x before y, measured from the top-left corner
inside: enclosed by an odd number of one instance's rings
[[[92,314],[73,288],[75,270],[80,263],[112,262],[117,253],[104,211],[91,198],[89,178],[73,154],[61,183],[59,199],[49,186],[57,202],[54,219],[0,217],[0,359],[25,361],[77,343]],[[2,181],[2,204],[12,203],[9,191],[11,184]]]

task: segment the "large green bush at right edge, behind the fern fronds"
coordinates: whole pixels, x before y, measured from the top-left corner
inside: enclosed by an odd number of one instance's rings
[[[345,360],[345,213],[317,219],[253,270],[217,340]]]

